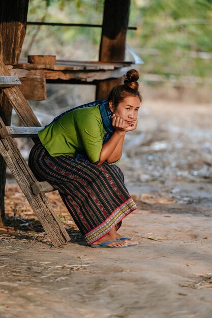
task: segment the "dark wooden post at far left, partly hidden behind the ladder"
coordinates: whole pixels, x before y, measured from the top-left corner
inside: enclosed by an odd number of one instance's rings
[[[7,65],[18,63],[26,33],[26,17],[29,0],[0,1],[0,57]],[[0,116],[6,125],[11,124],[12,106],[7,96],[0,92]],[[4,198],[6,183],[6,164],[0,155],[0,224],[5,216]]]

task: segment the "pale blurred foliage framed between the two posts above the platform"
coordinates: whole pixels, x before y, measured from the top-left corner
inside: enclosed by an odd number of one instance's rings
[[[28,21],[102,24],[103,0],[29,0]],[[22,56],[98,59],[101,28],[28,25]]]

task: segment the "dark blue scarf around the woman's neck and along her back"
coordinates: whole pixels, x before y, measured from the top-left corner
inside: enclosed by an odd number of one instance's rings
[[[95,102],[87,103],[87,104],[80,105],[80,106],[77,106],[75,108],[69,109],[66,112],[64,112],[63,114],[60,114],[57,117],[55,117],[49,124],[51,124],[52,122],[56,121],[58,118],[62,117],[63,115],[65,115],[65,114],[67,114],[75,109],[85,108],[85,107],[93,107],[96,105],[100,105],[100,113],[102,116],[102,122],[103,122],[104,130],[106,131],[106,136],[103,140],[103,143],[105,143],[106,141],[108,141],[108,139],[114,133],[114,128],[111,124],[111,111],[109,109],[107,100],[95,101]],[[48,125],[46,125],[45,127],[47,127]]]

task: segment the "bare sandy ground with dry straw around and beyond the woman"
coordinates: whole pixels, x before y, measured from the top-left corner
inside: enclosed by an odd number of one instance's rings
[[[1,318],[211,318],[211,105],[146,99],[139,116],[119,164],[138,206],[119,231],[139,244],[87,247],[54,192],[71,237],[54,248],[9,182]]]

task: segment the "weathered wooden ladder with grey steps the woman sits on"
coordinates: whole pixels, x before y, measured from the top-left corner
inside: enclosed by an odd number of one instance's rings
[[[33,126],[20,128],[22,132],[25,130],[28,132],[28,136],[34,137],[38,130],[42,129],[41,124],[17,85],[20,85],[19,79],[10,77],[6,66],[0,58],[0,89],[4,88],[4,93],[23,124],[25,126]],[[38,182],[33,175],[13,140],[13,137],[17,137],[17,134],[13,134],[15,129],[18,128],[7,127],[0,117],[0,154],[40,220],[52,244],[55,247],[61,246],[70,241],[70,237],[44,194],[53,190],[53,187],[48,182]],[[31,133],[29,133],[30,129]]]

